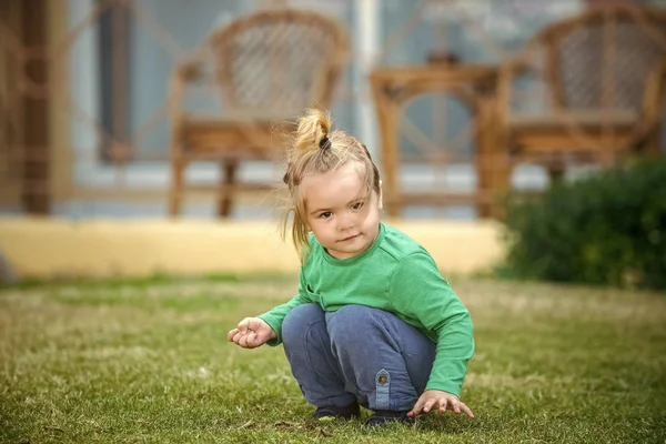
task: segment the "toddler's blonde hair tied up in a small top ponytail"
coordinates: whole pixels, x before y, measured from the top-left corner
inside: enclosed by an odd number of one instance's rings
[[[309,109],[299,119],[297,129],[286,150],[286,172],[283,181],[289,188],[289,204],[282,219],[282,235],[291,231],[292,241],[305,261],[309,245],[309,229],[305,222],[305,202],[300,185],[303,176],[311,173],[327,173],[349,162],[359,162],[364,168],[366,193],[380,194],[380,173],[367,148],[344,131],[331,132],[331,115],[322,109]],[[290,223],[291,222],[291,223]]]

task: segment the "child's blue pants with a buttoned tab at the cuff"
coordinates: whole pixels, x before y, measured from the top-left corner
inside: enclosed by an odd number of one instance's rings
[[[425,390],[435,344],[383,310],[299,305],[282,323],[284,351],[305,400],[317,407],[357,402],[411,410]]]

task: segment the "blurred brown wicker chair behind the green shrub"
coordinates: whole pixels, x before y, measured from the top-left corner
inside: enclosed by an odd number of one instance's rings
[[[541,87],[545,109],[516,110],[539,102],[516,94],[518,74]],[[664,80],[665,11],[599,7],[546,27],[501,68],[492,188],[507,191],[518,162],[541,163],[557,181],[567,161],[658,153]]]

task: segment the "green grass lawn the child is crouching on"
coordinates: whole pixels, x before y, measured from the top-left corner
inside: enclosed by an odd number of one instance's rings
[[[477,352],[463,400],[365,432],[317,424],[282,347],[226,331],[292,279],[33,284],[0,291],[2,443],[665,443],[666,297],[455,279]],[[367,412],[364,412],[366,415]]]

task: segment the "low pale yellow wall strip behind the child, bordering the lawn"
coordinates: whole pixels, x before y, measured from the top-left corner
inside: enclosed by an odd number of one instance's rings
[[[492,222],[396,222],[444,273],[501,258]],[[23,278],[148,275],[155,272],[295,272],[297,258],[271,222],[58,219],[0,220],[0,249]]]

